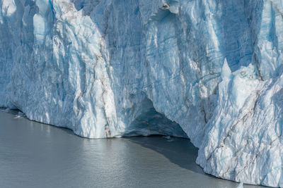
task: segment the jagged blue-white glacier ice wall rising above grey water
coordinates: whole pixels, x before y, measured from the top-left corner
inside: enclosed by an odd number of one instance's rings
[[[282,0],[0,0],[0,106],[82,137],[189,137],[283,187]]]

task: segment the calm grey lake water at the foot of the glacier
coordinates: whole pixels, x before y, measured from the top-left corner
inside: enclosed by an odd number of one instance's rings
[[[205,174],[196,158],[188,139],[85,139],[0,112],[0,187],[238,186]]]

